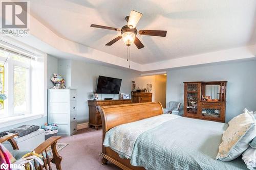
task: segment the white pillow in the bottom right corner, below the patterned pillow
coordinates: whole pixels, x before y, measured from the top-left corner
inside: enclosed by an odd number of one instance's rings
[[[243,153],[242,159],[248,169],[254,170],[253,168],[256,167],[256,149],[251,147],[247,148]]]

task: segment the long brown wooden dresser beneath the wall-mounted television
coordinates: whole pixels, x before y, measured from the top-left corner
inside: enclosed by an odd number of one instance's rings
[[[110,101],[88,101],[89,106],[89,127],[95,127],[98,130],[102,126],[100,113],[97,112],[96,106],[109,106],[109,105],[121,105],[132,103],[132,100],[110,100]]]

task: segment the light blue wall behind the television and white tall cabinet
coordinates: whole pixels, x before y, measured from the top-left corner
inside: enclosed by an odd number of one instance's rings
[[[53,86],[50,81],[53,73],[60,74],[65,79],[67,88],[77,90],[78,124],[89,121],[88,100],[94,99],[93,91],[96,90],[99,75],[122,79],[120,93],[131,93],[133,79],[140,77],[132,70],[125,71],[79,60],[57,59],[48,56],[48,88]],[[99,94],[99,100],[104,98],[119,99],[119,94]]]

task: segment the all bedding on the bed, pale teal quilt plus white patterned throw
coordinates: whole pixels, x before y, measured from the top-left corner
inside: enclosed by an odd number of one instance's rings
[[[215,159],[227,124],[174,116],[117,126],[106,132],[103,144],[145,169],[247,169],[241,157],[228,162]],[[160,122],[144,126],[156,117]]]

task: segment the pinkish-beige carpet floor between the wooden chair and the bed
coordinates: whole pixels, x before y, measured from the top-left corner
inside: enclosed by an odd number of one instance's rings
[[[59,155],[63,158],[61,162],[63,170],[120,169],[110,162],[106,166],[101,165],[99,154],[102,149],[102,130],[96,131],[91,128],[78,130],[75,135],[62,137],[58,142],[69,143],[59,151]]]

